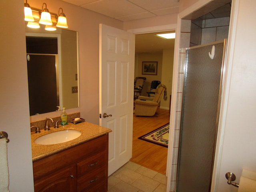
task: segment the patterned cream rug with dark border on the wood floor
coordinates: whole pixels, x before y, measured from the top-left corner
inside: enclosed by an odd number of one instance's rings
[[[165,124],[154,131],[151,131],[145,135],[140,136],[138,139],[154,143],[160,146],[168,147],[169,139],[169,127],[170,124]]]

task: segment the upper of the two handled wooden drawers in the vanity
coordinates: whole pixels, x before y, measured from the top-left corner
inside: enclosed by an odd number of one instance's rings
[[[87,158],[76,165],[77,177],[80,178],[80,176],[83,176],[84,174],[89,174],[102,166],[106,166],[107,162],[107,151],[100,152],[99,154]]]

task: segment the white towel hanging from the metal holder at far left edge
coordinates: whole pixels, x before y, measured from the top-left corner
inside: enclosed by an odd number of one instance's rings
[[[7,142],[5,138],[0,139],[0,192],[9,192]]]

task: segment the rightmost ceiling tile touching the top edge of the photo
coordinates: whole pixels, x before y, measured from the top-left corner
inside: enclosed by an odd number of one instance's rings
[[[179,6],[179,3],[176,0],[151,0],[151,1],[150,0],[129,0],[129,1],[149,11]]]

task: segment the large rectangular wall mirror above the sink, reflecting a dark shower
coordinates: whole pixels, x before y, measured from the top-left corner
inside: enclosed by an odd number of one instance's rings
[[[30,116],[79,106],[78,32],[26,26]]]

